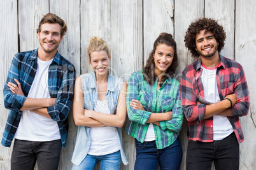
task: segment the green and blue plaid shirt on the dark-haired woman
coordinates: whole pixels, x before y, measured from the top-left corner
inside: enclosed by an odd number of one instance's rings
[[[130,106],[132,99],[139,100],[143,110],[136,110]],[[129,125],[126,131],[140,142],[144,142],[149,123],[146,123],[152,113],[173,111],[170,121],[160,121],[160,127],[153,124],[155,142],[158,149],[171,145],[180,133],[183,121],[183,110],[180,101],[180,82],[173,77],[167,79],[157,93],[157,81],[150,86],[143,79],[142,70],[134,72],[129,77],[127,86],[127,113]]]

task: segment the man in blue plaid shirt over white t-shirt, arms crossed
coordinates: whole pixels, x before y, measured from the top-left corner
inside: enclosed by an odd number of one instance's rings
[[[10,110],[2,145],[10,147],[11,169],[57,169],[66,146],[68,113],[73,100],[75,67],[57,48],[67,26],[48,13],[37,29],[39,48],[17,53],[4,84],[4,106]]]

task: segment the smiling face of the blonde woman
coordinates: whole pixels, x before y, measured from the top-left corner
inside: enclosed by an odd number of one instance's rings
[[[90,53],[90,64],[96,75],[108,75],[110,58],[106,51],[94,51]]]

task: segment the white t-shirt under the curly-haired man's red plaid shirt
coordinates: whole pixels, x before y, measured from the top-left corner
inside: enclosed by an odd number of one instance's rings
[[[202,81],[204,87],[204,98],[209,103],[220,101],[216,81],[217,67],[207,68],[203,64]],[[222,140],[234,131],[226,116],[213,115],[213,140]]]

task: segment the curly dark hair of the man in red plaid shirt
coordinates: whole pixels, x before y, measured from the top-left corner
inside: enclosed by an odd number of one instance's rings
[[[189,25],[184,39],[185,46],[192,53],[192,57],[197,58],[199,56],[199,53],[196,51],[196,34],[198,34],[200,30],[206,30],[206,32],[210,31],[213,34],[218,42],[218,52],[220,53],[226,39],[226,33],[222,25],[219,25],[216,20],[211,18],[199,18]]]

